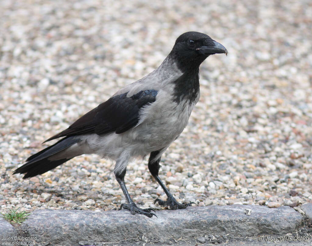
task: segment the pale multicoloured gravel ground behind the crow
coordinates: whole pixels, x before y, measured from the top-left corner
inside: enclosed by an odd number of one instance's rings
[[[122,86],[153,71],[186,31],[221,42],[228,56],[201,66],[201,98],[162,158],[160,178],[178,201],[312,201],[312,3],[301,1],[1,1],[0,206],[117,209],[114,163],[76,157],[31,179],[12,171]],[[141,207],[166,199],[129,164]],[[299,212],[302,212],[299,210]],[[302,212],[303,213],[303,212]]]

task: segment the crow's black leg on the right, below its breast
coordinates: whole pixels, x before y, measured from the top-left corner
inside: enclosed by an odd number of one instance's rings
[[[170,209],[185,209],[187,206],[192,206],[191,203],[183,203],[183,204],[178,203],[176,199],[174,199],[173,195],[169,192],[167,187],[163,184],[163,182],[158,177],[158,171],[160,168],[160,165],[159,165],[160,157],[157,160],[154,160],[158,154],[159,154],[159,151],[151,152],[149,156],[149,171],[151,172],[155,180],[158,182],[158,184],[161,186],[161,188],[163,188],[168,198],[166,201],[163,201],[157,198],[154,201],[154,203],[158,202],[159,205],[167,205],[170,207]]]

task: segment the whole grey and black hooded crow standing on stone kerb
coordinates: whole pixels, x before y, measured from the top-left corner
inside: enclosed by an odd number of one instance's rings
[[[33,177],[75,156],[95,153],[116,160],[115,178],[128,202],[120,208],[152,217],[154,210],[137,207],[124,183],[129,161],[149,154],[149,171],[168,197],[166,201],[156,199],[155,202],[171,209],[186,208],[191,204],[178,203],[159,179],[159,162],[163,152],[187,125],[199,99],[199,65],[216,53],[227,54],[227,50],[206,34],[183,33],[157,69],[120,89],[67,129],[46,140],[62,137],[30,156],[14,174],[23,173],[24,179]]]

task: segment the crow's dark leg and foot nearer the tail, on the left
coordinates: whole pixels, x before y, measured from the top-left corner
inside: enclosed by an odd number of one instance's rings
[[[127,201],[128,201],[128,204],[121,204],[120,205],[120,209],[122,208],[125,208],[125,209],[129,209],[130,210],[130,213],[131,214],[135,214],[135,213],[138,213],[138,214],[144,214],[148,217],[153,217],[153,215],[156,216],[156,214],[152,213],[151,211],[154,211],[154,209],[141,209],[141,208],[138,208],[137,205],[132,201],[130,195],[129,195],[129,192],[126,188],[126,185],[124,184],[124,175],[126,175],[126,169],[124,169],[124,171],[121,173],[121,174],[115,174],[115,177],[116,177],[116,180],[117,182],[119,183],[122,191],[124,192],[124,196],[126,197]],[[156,216],[157,217],[157,216]]]

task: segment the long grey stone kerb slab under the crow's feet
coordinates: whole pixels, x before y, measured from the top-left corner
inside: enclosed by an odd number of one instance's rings
[[[251,215],[245,214],[251,209]],[[23,223],[27,236],[39,243],[145,242],[198,238],[215,234],[254,236],[294,232],[302,216],[288,206],[268,208],[256,205],[188,207],[157,211],[157,216],[132,215],[122,211],[36,210]]]

